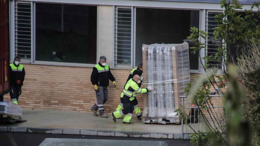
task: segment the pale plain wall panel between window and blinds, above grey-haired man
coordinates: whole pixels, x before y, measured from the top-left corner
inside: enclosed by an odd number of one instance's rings
[[[113,64],[113,6],[98,6],[98,59],[107,58]]]

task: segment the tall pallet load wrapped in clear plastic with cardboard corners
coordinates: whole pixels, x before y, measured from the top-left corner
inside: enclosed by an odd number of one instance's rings
[[[144,86],[154,91],[144,96],[142,123],[179,123],[175,109],[190,82],[189,44],[143,45]]]

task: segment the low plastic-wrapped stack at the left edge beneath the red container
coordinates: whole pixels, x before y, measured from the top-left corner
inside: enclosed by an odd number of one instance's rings
[[[4,100],[0,102],[0,114],[22,117],[22,108],[8,100]]]

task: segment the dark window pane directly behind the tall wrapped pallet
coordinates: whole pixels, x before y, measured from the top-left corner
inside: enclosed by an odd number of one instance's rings
[[[136,61],[142,62],[142,44],[179,44],[190,35],[190,27],[199,28],[199,11],[174,9],[136,9]],[[198,55],[189,52],[190,69],[199,69]]]

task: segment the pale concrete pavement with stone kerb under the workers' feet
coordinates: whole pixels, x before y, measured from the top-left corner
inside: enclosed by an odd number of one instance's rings
[[[108,113],[107,113],[108,114]],[[134,125],[123,125],[122,119],[113,123],[108,118],[95,117],[92,113],[23,109],[22,119],[27,122],[0,124],[0,131],[39,132],[124,137],[180,138],[181,125],[142,124],[136,116]]]

